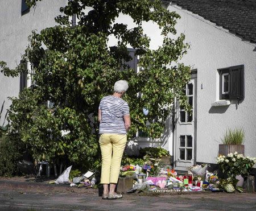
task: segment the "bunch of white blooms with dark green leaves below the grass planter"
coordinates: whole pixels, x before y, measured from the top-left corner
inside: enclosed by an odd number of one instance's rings
[[[220,155],[217,158],[222,172],[228,177],[236,177],[237,175],[247,176],[256,163],[256,158],[245,157],[237,152],[230,153],[227,156]]]

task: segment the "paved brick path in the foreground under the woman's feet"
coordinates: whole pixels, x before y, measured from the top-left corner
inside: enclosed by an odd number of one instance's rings
[[[132,193],[102,200],[97,189],[52,187],[0,180],[0,210],[256,210],[256,193]]]

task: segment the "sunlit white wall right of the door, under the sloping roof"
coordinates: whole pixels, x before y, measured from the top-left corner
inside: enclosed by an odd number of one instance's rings
[[[197,162],[216,163],[218,144],[226,129],[243,127],[245,155],[256,156],[256,52],[255,44],[242,41],[222,27],[204,20],[180,7],[170,5],[181,15],[177,34],[184,32],[190,44],[183,62],[197,68]],[[218,68],[243,64],[245,67],[245,100],[236,105],[214,109],[218,100]],[[203,89],[201,89],[203,84]]]

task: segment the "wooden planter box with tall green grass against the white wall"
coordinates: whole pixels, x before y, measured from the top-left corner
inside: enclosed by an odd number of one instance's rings
[[[230,153],[238,152],[238,154],[245,155],[245,146],[243,145],[245,138],[245,131],[240,129],[228,129],[221,139],[222,144],[219,145],[218,154],[227,156]]]

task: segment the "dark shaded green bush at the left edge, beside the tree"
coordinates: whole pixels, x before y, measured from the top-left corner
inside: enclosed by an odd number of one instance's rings
[[[24,146],[18,137],[0,136],[0,176],[13,176],[18,173],[17,162]]]

